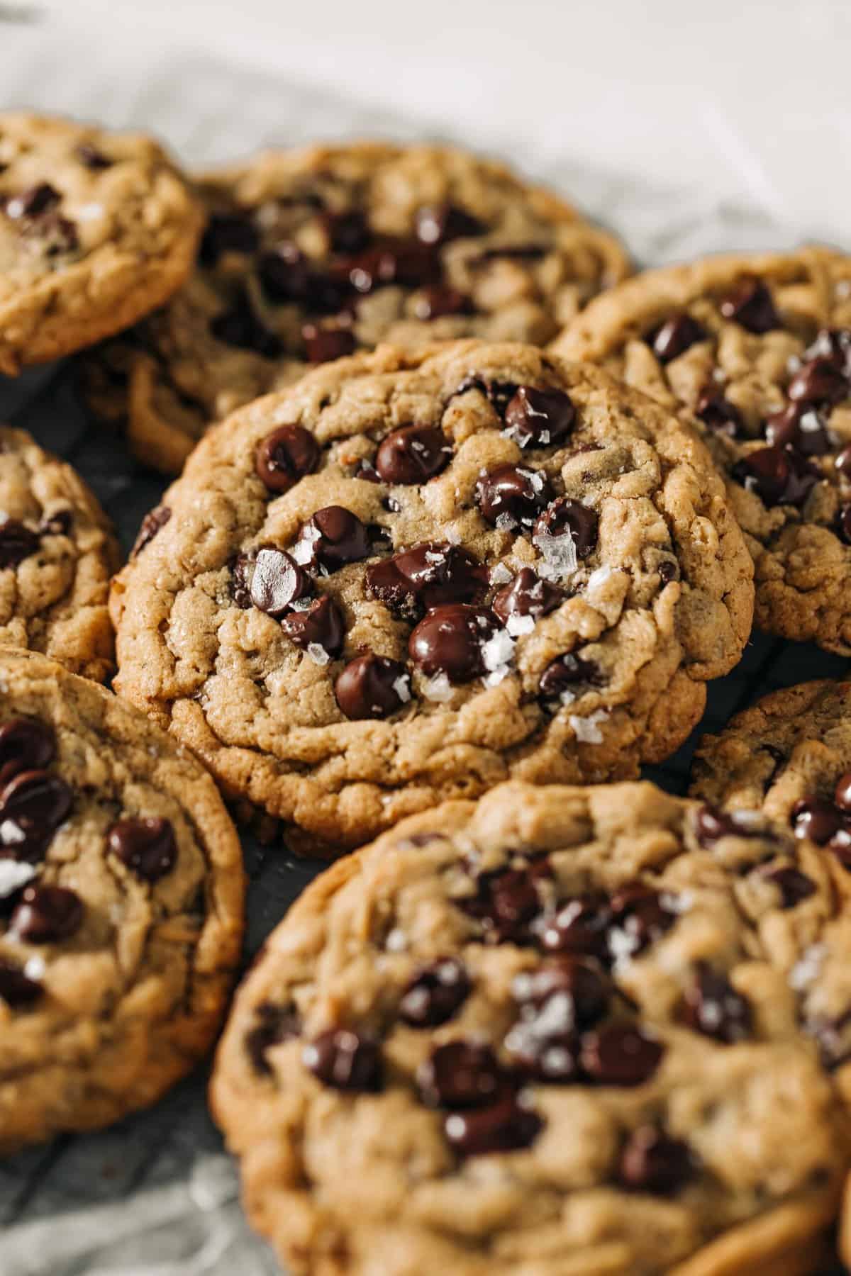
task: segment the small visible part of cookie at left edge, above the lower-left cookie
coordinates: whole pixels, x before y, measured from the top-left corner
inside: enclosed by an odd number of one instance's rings
[[[0,426],[0,644],[103,681],[119,546],[83,480],[23,430]]]

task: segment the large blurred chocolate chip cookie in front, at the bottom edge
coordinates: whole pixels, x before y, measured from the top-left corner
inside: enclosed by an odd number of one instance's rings
[[[211,1091],[293,1276],[815,1271],[851,1142],[803,965],[851,1005],[851,878],[739,818],[512,783],[307,888]]]

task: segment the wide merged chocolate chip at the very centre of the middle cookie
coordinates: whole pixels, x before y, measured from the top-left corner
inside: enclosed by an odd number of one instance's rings
[[[397,610],[413,602],[426,607],[447,602],[472,602],[487,584],[487,572],[459,545],[429,541],[403,550],[366,569],[366,586],[374,598]]]

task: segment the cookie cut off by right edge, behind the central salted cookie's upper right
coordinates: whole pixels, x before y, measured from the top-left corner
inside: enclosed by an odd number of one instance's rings
[[[757,624],[851,655],[851,258],[651,271],[555,350],[699,420],[754,558]]]

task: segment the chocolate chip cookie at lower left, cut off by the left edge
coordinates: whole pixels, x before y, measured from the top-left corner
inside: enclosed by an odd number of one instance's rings
[[[152,1104],[209,1048],[242,931],[213,781],[110,692],[0,648],[0,1151]]]

